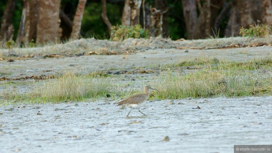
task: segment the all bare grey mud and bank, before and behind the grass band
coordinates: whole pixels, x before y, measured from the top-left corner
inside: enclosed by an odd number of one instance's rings
[[[49,47],[13,49],[18,55],[13,57],[13,62],[8,62],[8,58],[0,60],[0,78],[3,79],[0,93],[13,92],[14,88],[20,93],[28,92],[32,89],[30,82],[33,82],[33,77],[29,76],[55,75],[64,70],[86,74],[101,70],[116,75],[139,68],[151,70],[143,74],[121,74],[124,79],[120,84],[133,79],[139,86],[143,80],[136,77],[152,79],[157,75],[154,73],[156,68],[164,64],[177,64],[195,58],[230,61],[271,58],[271,39],[265,43],[244,38],[225,38],[221,41],[129,39],[110,42],[81,39]],[[0,53],[6,55],[9,51],[1,50]],[[113,55],[107,55],[111,51]],[[45,55],[52,55],[53,58]],[[270,70],[264,71],[271,74]],[[13,87],[3,85],[10,81],[15,84]],[[121,108],[117,102],[111,98],[55,104],[3,102],[0,106],[0,150],[232,152],[233,145],[272,143],[271,96],[154,100],[140,108],[147,116],[135,109],[128,118],[125,116],[130,108]],[[200,109],[192,109],[197,106]]]

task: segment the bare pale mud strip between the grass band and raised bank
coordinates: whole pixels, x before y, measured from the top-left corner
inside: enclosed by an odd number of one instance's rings
[[[187,51],[187,52],[186,52]],[[62,58],[0,61],[0,79],[33,79],[73,70],[94,72],[100,70],[132,71],[137,67],[158,67],[165,64],[178,64],[195,58],[218,58],[219,60],[243,61],[271,55],[271,46],[231,48],[231,49],[156,49],[137,51],[123,55],[86,55]],[[2,68],[2,69],[1,69]],[[1,72],[2,72],[1,71]],[[5,80],[5,79],[4,79]]]

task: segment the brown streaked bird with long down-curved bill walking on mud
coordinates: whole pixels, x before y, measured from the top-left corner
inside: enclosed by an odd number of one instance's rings
[[[144,87],[144,94],[133,95],[125,100],[118,102],[118,105],[131,107],[131,110],[133,110],[134,108],[138,108],[139,112],[142,113],[139,107],[144,105],[144,102],[148,99],[151,90],[157,90],[157,89],[151,88],[150,86],[146,86]],[[128,112],[128,115],[131,112],[131,110]],[[146,116],[144,113],[142,114]],[[128,115],[126,117],[128,117]]]

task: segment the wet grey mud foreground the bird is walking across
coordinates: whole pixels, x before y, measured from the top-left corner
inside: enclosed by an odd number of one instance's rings
[[[147,102],[140,108],[147,116],[135,109],[129,118],[130,108],[115,101],[1,106],[0,152],[233,152],[233,145],[272,144],[272,96],[170,101]]]

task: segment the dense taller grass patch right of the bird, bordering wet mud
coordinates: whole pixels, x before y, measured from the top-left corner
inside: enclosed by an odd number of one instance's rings
[[[272,78],[260,75],[205,69],[186,75],[169,72],[159,78],[159,84],[153,83],[153,86],[160,91],[155,94],[160,99],[199,98],[222,94],[226,97],[239,97],[271,94],[271,82]]]

